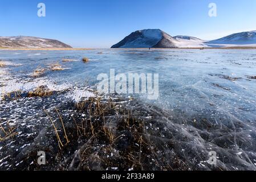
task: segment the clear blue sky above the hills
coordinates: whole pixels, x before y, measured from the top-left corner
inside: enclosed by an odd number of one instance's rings
[[[46,17],[37,16],[45,3]],[[209,3],[217,17],[208,16]],[[58,39],[72,47],[109,48],[136,30],[210,40],[256,30],[255,0],[0,0],[0,36]]]

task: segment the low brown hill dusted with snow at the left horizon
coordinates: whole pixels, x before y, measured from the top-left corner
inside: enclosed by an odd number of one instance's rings
[[[0,47],[6,48],[71,48],[58,40],[35,38],[31,36],[2,36]]]

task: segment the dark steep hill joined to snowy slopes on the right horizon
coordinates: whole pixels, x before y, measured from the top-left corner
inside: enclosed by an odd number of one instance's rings
[[[160,29],[132,32],[111,48],[197,48],[197,47],[256,47],[256,31],[241,32],[221,39],[206,41],[193,36],[170,36]]]

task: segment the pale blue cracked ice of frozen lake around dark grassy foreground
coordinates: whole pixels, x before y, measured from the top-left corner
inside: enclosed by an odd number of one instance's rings
[[[83,63],[83,57],[90,61]],[[15,127],[18,133],[0,142],[0,169],[15,169],[25,163],[26,152],[33,151],[32,146],[47,127],[43,121],[52,129],[43,109],[93,96],[83,88],[94,90],[97,75],[109,75],[110,69],[116,74],[159,74],[157,100],[147,100],[145,94],[129,96],[167,113],[168,119],[157,121],[164,127],[152,123],[157,131],[151,133],[172,140],[174,147],[169,150],[188,163],[188,169],[216,169],[206,162],[209,151],[217,152],[220,169],[256,169],[255,49],[0,51],[1,59],[6,64],[0,67],[2,96],[17,90],[26,93],[41,85],[63,94],[0,98],[1,125]],[[65,59],[72,61],[62,61]],[[64,69],[31,77],[35,69],[52,63]],[[3,131],[0,134],[3,137]]]

